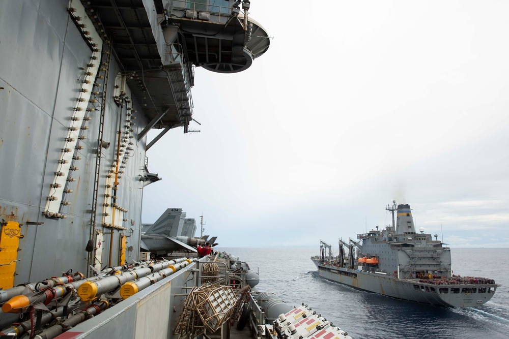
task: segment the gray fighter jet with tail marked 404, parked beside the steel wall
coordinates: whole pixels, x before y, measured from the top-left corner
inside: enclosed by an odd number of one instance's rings
[[[186,219],[182,208],[168,208],[161,214],[154,224],[142,225],[142,251],[162,255],[168,252],[188,250],[196,253],[196,246],[209,242],[213,245],[217,237],[208,239],[208,235],[201,238],[193,237],[196,231],[196,221]]]

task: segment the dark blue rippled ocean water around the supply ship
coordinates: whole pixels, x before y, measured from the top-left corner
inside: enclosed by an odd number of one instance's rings
[[[362,292],[320,279],[309,259],[316,249],[215,248],[259,270],[262,292],[302,302],[355,338],[509,338],[509,249],[451,249],[453,271],[502,286],[480,307],[420,304]]]

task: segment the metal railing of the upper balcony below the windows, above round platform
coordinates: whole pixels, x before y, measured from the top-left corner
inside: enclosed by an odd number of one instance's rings
[[[202,0],[202,1],[183,1],[174,0],[172,6],[169,8],[169,16],[178,15],[175,12],[185,12],[186,19],[200,19],[209,22],[220,22],[224,23],[231,16],[232,8],[230,7],[231,1],[228,2],[228,7],[219,6],[218,4],[224,4],[224,0]],[[209,14],[209,15],[207,15]]]

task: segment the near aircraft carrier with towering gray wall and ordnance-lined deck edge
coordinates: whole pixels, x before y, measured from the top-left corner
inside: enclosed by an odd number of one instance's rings
[[[151,147],[199,124],[194,69],[241,72],[269,48],[249,8],[0,2],[0,335],[349,338],[257,291],[238,258],[197,257],[208,237],[182,209],[142,230],[144,188],[161,180],[148,157],[166,156]]]

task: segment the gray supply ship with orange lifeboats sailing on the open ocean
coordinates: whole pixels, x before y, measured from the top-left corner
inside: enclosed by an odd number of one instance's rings
[[[386,209],[392,213],[392,226],[358,234],[359,241],[339,239],[336,257],[332,246],[320,240],[320,255],[311,260],[321,278],[362,291],[450,307],[480,306],[493,297],[498,286],[494,280],[453,274],[450,248],[422,227],[420,233],[415,231],[410,205],[393,201]]]

